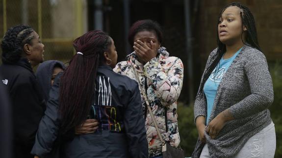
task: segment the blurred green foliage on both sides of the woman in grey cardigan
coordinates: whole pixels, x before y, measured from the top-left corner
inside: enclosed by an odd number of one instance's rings
[[[282,62],[270,65],[270,73],[273,81],[274,102],[269,107],[271,118],[276,131],[275,158],[282,158]],[[197,142],[198,133],[194,124],[193,106],[178,104],[178,126],[180,133],[180,145],[185,151],[185,156],[191,156]]]

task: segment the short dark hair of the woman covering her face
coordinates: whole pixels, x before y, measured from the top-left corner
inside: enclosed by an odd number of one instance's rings
[[[159,43],[161,43],[163,40],[162,29],[159,23],[154,22],[150,19],[140,20],[133,23],[129,29],[128,42],[131,46],[133,46],[134,43],[134,36],[141,31],[153,31]]]

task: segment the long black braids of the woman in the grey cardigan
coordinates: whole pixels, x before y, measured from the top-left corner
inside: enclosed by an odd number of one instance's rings
[[[255,24],[255,19],[253,14],[251,13],[250,9],[242,4],[240,4],[239,2],[232,2],[230,4],[228,4],[227,6],[225,6],[222,11],[219,14],[219,18],[221,17],[222,13],[231,6],[237,6],[238,8],[240,8],[242,11],[240,12],[240,17],[242,20],[242,29],[245,26],[247,28],[246,31],[246,43],[243,40],[243,32],[241,34],[241,40],[243,42],[243,44],[245,45],[249,45],[253,48],[258,49],[259,51],[261,51],[259,45],[258,45],[258,41],[257,41],[257,33],[256,33],[256,24]],[[217,23],[217,25],[219,24],[219,22]],[[203,90],[204,90],[204,85],[206,80],[208,79],[208,77],[210,76],[211,72],[214,70],[214,68],[216,68],[217,64],[219,63],[220,59],[222,58],[223,54],[226,52],[226,45],[223,44],[220,40],[219,40],[219,36],[218,36],[218,29],[217,30],[217,52],[216,55],[214,55],[212,58],[215,58],[214,61],[211,63],[211,65],[206,69],[204,77],[203,77],[203,82],[200,85],[200,90],[198,91],[198,94],[203,94]]]

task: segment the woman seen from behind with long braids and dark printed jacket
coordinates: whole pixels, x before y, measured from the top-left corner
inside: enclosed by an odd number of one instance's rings
[[[77,54],[54,81],[31,153],[44,157],[59,134],[74,133],[87,118],[96,118],[95,133],[63,142],[63,158],[147,158],[138,84],[113,72],[117,62],[113,40],[95,30],[73,45]]]

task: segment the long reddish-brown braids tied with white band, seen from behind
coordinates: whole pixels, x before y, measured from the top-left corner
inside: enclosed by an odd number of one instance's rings
[[[111,38],[103,31],[94,30],[78,37],[73,45],[77,52],[60,81],[61,129],[65,133],[81,125],[90,113],[95,96],[95,79],[103,52],[109,49]]]

